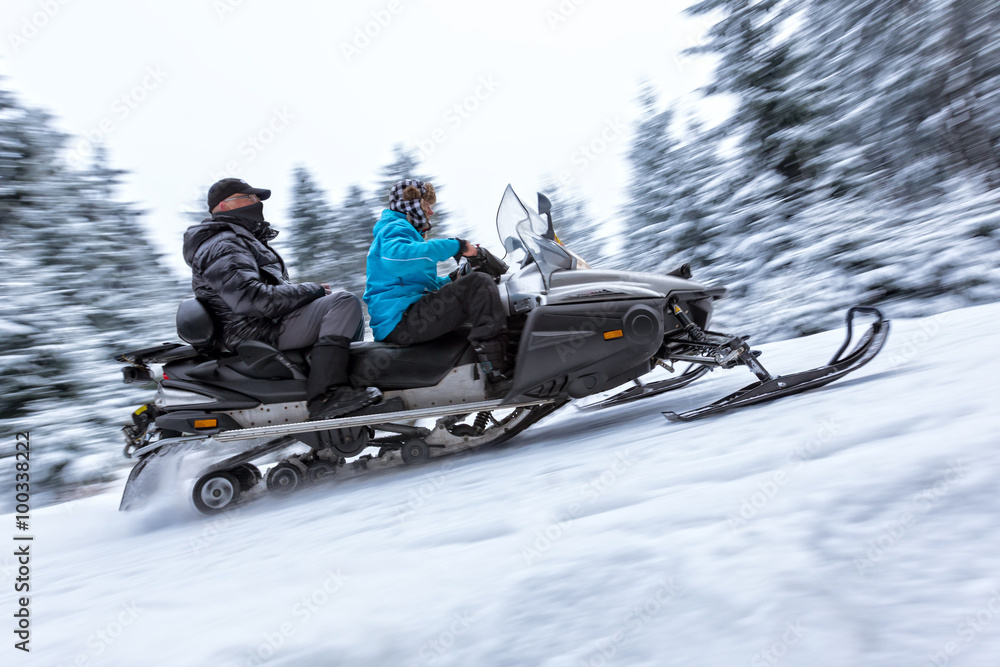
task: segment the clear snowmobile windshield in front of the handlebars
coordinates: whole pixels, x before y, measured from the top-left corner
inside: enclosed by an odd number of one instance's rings
[[[522,204],[509,185],[497,210],[497,232],[507,251],[504,257],[514,255],[521,266],[528,264],[529,258],[534,260],[546,285],[554,272],[572,269],[576,264],[576,258],[566,248],[548,237],[548,223]]]

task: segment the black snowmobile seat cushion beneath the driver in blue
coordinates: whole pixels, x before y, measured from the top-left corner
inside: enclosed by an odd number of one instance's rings
[[[475,362],[467,336],[464,328],[417,345],[351,343],[351,383],[382,391],[433,387],[455,366]]]

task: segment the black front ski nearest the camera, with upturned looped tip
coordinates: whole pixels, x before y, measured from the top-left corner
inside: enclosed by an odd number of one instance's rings
[[[840,355],[844,353],[844,350],[846,350],[848,345],[851,343],[853,321],[856,313],[874,315],[878,319],[871,325],[871,328],[865,332],[864,336],[862,336],[861,340],[851,353],[846,357],[841,358]],[[844,341],[844,344],[840,346],[840,349],[837,350],[837,353],[833,355],[833,359],[831,359],[830,363],[826,366],[820,366],[819,368],[802,371],[800,373],[793,373],[792,375],[779,375],[778,377],[770,377],[770,375],[763,370],[763,367],[760,367],[761,373],[758,373],[758,377],[760,377],[761,374],[763,374],[763,377],[758,382],[747,385],[739,391],[733,392],[729,396],[719,399],[718,401],[710,403],[704,407],[696,408],[680,414],[676,412],[664,412],[663,416],[672,422],[687,422],[700,417],[707,417],[709,415],[719,414],[720,412],[725,412],[727,410],[741,408],[755,403],[763,403],[764,401],[774,400],[783,396],[791,396],[792,394],[798,394],[803,391],[822,387],[823,385],[844,377],[848,373],[856,371],[875,358],[875,355],[877,355],[882,349],[882,346],[885,345],[885,341],[888,336],[889,320],[885,319],[881,312],[875,308],[855,306],[847,311],[847,340]],[[753,368],[753,366],[751,366],[751,368]],[[755,372],[757,372],[756,369]]]

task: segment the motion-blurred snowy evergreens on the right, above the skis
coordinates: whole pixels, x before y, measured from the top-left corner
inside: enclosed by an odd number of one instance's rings
[[[1000,298],[1000,4],[703,0],[704,93],[678,127],[644,90],[620,266],[720,282],[726,326],[771,338],[854,304],[921,316]]]

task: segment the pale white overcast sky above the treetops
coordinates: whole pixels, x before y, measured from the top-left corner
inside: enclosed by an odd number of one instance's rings
[[[0,73],[77,156],[102,141],[131,172],[122,194],[181,272],[181,211],[217,178],[271,188],[280,229],[295,165],[339,201],[395,144],[422,151],[453,220],[487,243],[508,182],[533,202],[561,178],[619,217],[643,81],[719,120],[692,94],[711,61],[680,55],[710,26],[688,4],[4,0]]]

